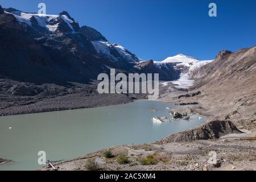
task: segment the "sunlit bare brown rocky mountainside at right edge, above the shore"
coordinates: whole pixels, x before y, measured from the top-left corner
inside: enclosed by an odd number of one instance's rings
[[[212,119],[224,120],[229,114],[227,119],[237,126],[255,127],[250,119],[256,110],[256,46],[233,53],[221,51],[193,77],[192,92],[201,91],[193,101],[216,113]]]

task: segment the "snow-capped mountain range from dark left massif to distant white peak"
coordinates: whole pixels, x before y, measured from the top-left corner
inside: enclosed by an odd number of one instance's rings
[[[210,62],[185,55],[143,61],[94,28],[80,27],[67,11],[44,15],[1,6],[0,60],[1,78],[36,83],[88,82],[110,68],[176,80]]]

